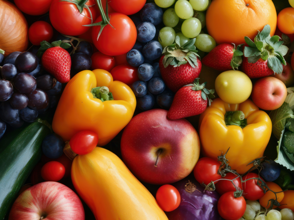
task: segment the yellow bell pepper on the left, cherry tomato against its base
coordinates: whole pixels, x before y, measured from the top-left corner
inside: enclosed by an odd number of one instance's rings
[[[111,95],[114,100],[111,100]],[[136,97],[126,84],[113,81],[106,70],[84,70],[66,85],[52,128],[64,141],[69,141],[81,130],[96,132],[98,146],[104,146],[128,124],[135,108]]]

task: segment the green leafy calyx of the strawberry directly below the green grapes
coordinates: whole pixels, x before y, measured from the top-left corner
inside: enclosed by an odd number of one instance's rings
[[[200,56],[197,54],[198,51],[194,45],[195,40],[196,38],[193,38],[180,46],[180,37],[176,36],[176,43],[166,46],[163,49],[162,53],[165,55],[162,60],[164,68],[168,67],[168,65],[178,67],[187,62],[189,62],[191,67],[197,67],[197,56]]]

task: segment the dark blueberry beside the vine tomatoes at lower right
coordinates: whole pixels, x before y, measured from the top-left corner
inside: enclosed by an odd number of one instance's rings
[[[281,169],[278,164],[273,160],[265,160],[262,163],[263,169],[260,172],[260,176],[266,182],[273,182],[280,176]]]

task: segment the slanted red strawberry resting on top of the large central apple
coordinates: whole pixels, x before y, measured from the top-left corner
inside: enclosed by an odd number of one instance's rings
[[[199,78],[195,79],[193,84],[188,84],[176,93],[171,108],[168,110],[169,119],[182,119],[194,115],[199,115],[208,105],[210,106],[214,98],[214,89],[205,88],[206,82],[199,85]]]

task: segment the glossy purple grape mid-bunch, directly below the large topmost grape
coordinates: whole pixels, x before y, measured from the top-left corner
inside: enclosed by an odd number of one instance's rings
[[[36,89],[37,82],[35,77],[28,73],[20,73],[14,80],[14,86],[21,93],[31,93]]]

